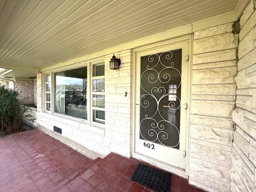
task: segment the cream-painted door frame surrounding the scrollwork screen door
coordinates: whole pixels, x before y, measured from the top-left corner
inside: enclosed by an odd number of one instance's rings
[[[148,158],[147,156],[138,154],[135,152],[135,142],[136,142],[136,85],[138,82],[136,82],[136,74],[137,74],[137,64],[136,64],[136,58],[138,52],[142,51],[147,51],[147,50],[152,50],[156,48],[161,48],[165,46],[170,46],[173,44],[178,44],[182,42],[188,42],[188,54],[190,56],[190,59],[188,60],[188,90],[187,90],[187,102],[188,102],[188,109],[186,112],[186,158],[185,158],[185,169],[178,168],[176,166],[171,166],[170,164],[166,164],[164,162],[159,162],[158,160],[154,160],[152,158]],[[188,178],[188,159],[189,159],[189,136],[190,136],[190,103],[191,103],[191,97],[190,97],[190,92],[191,92],[191,74],[192,74],[192,67],[191,67],[191,55],[192,55],[192,36],[186,36],[182,38],[176,38],[174,40],[168,40],[165,42],[160,42],[156,44],[150,44],[148,46],[143,46],[140,48],[134,48],[133,49],[133,64],[132,64],[132,156],[134,158],[138,158],[140,160],[143,160],[145,162],[148,162],[150,164],[154,164],[158,166],[159,168],[168,170],[170,172],[173,172],[175,174],[178,174],[179,176],[182,176],[184,178]],[[182,58],[183,59],[183,58]]]

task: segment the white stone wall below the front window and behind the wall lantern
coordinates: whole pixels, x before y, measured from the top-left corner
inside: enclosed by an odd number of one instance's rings
[[[116,152],[123,156],[131,155],[131,87],[132,87],[132,51],[124,50],[116,52],[120,58],[119,70],[109,69],[111,55],[105,56],[105,128],[88,125],[81,121],[65,116],[52,115],[42,112],[41,74],[37,74],[37,112],[34,125],[41,130],[53,131],[53,126],[62,128],[62,136],[69,140],[63,140],[68,146],[86,154],[84,146],[88,150],[106,156],[110,152]],[[125,97],[125,92],[128,93]],[[49,133],[49,132],[48,132]],[[51,136],[58,138],[58,135]],[[70,142],[75,141],[75,142]],[[90,156],[90,154],[86,154]],[[95,158],[95,156],[91,156]]]

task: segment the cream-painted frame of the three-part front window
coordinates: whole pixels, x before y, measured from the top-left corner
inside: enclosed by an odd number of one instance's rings
[[[88,125],[92,125],[92,126],[96,126],[98,128],[104,128],[105,124],[102,123],[98,123],[98,122],[94,122],[92,120],[92,66],[94,64],[103,64],[104,63],[104,70],[105,70],[105,60],[104,58],[98,58],[97,60],[91,60],[88,62],[80,62],[77,64],[70,64],[69,66],[63,66],[63,67],[59,67],[56,69],[52,69],[52,70],[47,70],[42,72],[42,102],[43,102],[43,112],[47,112],[50,113],[52,115],[56,115],[56,116],[60,116],[62,118],[66,118],[66,119],[70,119],[70,120],[76,120],[76,121],[80,121],[81,123],[85,123]],[[87,107],[87,120],[83,119],[83,118],[78,118],[78,117],[73,117],[73,116],[69,116],[66,114],[61,114],[58,112],[55,112],[55,78],[54,78],[54,74],[57,72],[62,72],[62,71],[66,71],[66,70],[72,70],[72,69],[76,69],[76,68],[82,68],[82,67],[87,67],[87,102],[86,102],[86,107]],[[50,87],[50,95],[51,95],[51,111],[47,111],[46,110],[46,82],[45,82],[45,77],[46,74],[50,74],[51,76],[51,87]],[[103,77],[104,76],[98,76],[98,77]],[[101,92],[102,94],[103,92]],[[105,92],[104,92],[105,93]],[[102,109],[102,108],[101,108]]]

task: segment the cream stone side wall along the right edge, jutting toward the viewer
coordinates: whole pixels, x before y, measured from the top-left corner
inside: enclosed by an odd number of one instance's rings
[[[240,18],[231,191],[256,191],[256,1]]]

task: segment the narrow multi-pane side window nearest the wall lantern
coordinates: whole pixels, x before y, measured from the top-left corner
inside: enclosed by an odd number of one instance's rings
[[[92,120],[105,124],[105,64],[92,65]]]

